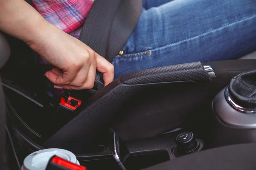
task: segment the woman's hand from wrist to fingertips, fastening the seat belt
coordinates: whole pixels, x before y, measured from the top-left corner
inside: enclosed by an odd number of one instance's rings
[[[93,88],[96,69],[103,73],[105,85],[113,81],[114,67],[110,62],[56,27],[42,41],[27,43],[56,67],[45,74],[55,84],[55,88]]]

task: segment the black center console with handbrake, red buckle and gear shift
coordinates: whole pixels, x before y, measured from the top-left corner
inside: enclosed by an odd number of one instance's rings
[[[240,73],[256,62],[243,62],[239,71],[231,61],[210,63],[215,72],[200,62],[140,71],[95,94],[72,92],[50,102],[37,89],[5,81],[20,160],[31,151],[64,148],[88,169],[136,170],[209,147],[255,142],[254,72]]]

